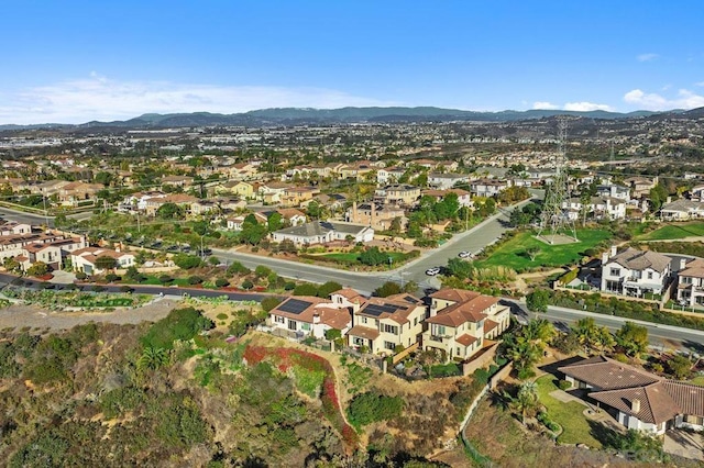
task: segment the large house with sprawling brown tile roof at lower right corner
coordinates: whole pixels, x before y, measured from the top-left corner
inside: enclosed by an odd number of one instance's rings
[[[587,400],[627,428],[663,434],[673,427],[704,430],[704,387],[664,379],[634,366],[595,356],[559,367]]]

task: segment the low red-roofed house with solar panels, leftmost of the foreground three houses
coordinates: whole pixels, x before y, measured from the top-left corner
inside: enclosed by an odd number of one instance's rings
[[[298,337],[323,338],[328,330],[339,330],[344,336],[352,326],[351,307],[346,302],[310,296],[288,298],[272,309],[268,316],[268,325],[274,330]]]

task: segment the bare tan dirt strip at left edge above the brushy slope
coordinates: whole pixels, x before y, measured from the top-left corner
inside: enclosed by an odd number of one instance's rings
[[[179,301],[161,299],[135,309],[114,312],[54,312],[36,305],[13,304],[0,309],[0,328],[67,330],[96,323],[130,324],[165,317]]]

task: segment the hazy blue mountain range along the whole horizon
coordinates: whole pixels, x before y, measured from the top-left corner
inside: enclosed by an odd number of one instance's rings
[[[459,109],[442,109],[433,107],[419,108],[341,108],[341,109],[309,109],[309,108],[273,108],[261,109],[235,114],[219,114],[210,112],[191,112],[157,114],[147,113],[134,119],[113,122],[87,122],[79,125],[35,124],[35,125],[0,125],[2,130],[22,130],[41,127],[65,129],[165,129],[190,126],[267,126],[267,125],[302,125],[330,123],[364,123],[364,122],[512,122],[551,118],[554,115],[573,115],[588,119],[632,119],[658,118],[659,115],[676,115],[678,118],[698,118],[704,114],[704,108],[690,111],[674,110],[664,113],[636,111],[629,113],[607,111],[562,111],[562,110],[529,110],[501,112],[464,111]]]

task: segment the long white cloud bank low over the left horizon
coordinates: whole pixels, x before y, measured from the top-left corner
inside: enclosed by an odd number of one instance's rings
[[[91,71],[86,79],[0,94],[0,123],[81,123],[130,119],[146,112],[235,113],[266,108],[332,109],[398,105],[324,88],[210,86],[117,81]]]

